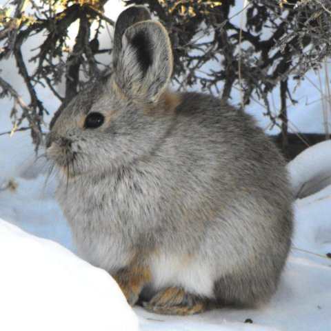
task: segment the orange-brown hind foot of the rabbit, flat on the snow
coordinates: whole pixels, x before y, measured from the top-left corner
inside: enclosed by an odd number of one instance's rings
[[[157,293],[144,308],[155,314],[192,315],[204,312],[207,305],[203,299],[185,292],[182,288],[165,288]]]

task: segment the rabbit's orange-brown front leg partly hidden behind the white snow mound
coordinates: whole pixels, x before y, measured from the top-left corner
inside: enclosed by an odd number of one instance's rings
[[[114,274],[129,305],[133,306],[139,299],[143,286],[150,281],[150,270],[147,268],[125,268]]]

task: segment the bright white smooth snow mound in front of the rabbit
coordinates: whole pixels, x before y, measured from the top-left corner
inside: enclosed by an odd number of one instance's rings
[[[0,261],[0,330],[138,330],[106,271],[2,219]]]

